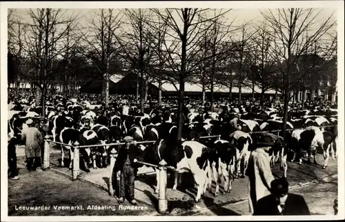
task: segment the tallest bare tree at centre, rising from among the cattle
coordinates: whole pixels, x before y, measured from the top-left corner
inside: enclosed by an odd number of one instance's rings
[[[153,9],[153,11],[168,25],[164,48],[168,52],[166,62],[175,76],[167,79],[179,82],[177,140],[180,141],[184,118],[184,83],[198,70],[197,54],[200,49],[197,44],[201,41],[203,32],[208,29],[208,27],[204,28],[203,24],[215,17],[207,16],[207,12],[210,10],[199,8],[166,8],[164,11],[159,9]],[[217,17],[220,16],[221,14],[217,15]],[[176,85],[175,88],[177,88]]]

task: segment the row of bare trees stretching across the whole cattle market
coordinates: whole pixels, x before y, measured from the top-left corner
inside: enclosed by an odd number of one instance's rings
[[[67,96],[76,85],[99,79],[108,107],[110,74],[135,70],[142,110],[150,81],[179,90],[179,129],[186,81],[201,83],[203,95],[209,89],[213,107],[215,85],[227,85],[230,99],[237,86],[241,100],[250,79],[251,87],[262,88],[262,101],[270,88],[283,92],[286,113],[292,90],[317,90],[320,81],[335,90],[333,15],[315,23],[322,10],[289,8],[262,12],[260,23],[237,24],[231,12],[100,9],[86,17],[73,10],[9,10],[8,80],[30,81],[44,109],[49,85],[61,83]]]

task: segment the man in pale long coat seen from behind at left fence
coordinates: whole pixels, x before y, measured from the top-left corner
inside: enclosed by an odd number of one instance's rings
[[[32,119],[26,121],[28,128],[23,128],[21,139],[25,143],[25,154],[28,170],[41,170],[41,145],[43,137],[39,129],[32,126]]]

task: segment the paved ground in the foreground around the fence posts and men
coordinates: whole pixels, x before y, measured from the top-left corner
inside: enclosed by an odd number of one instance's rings
[[[17,154],[19,152],[21,152],[20,149],[17,151]],[[52,204],[52,201],[50,200],[54,200],[53,203],[60,205],[70,203],[80,203],[83,205],[88,205],[89,203],[96,205],[117,204],[115,198],[110,197],[106,192],[106,190],[108,190],[109,169],[92,170],[92,172],[88,174],[81,171],[81,181],[72,182],[70,179],[65,177],[70,177],[72,172],[67,168],[59,167],[59,158],[61,158],[60,154],[54,153],[57,152],[55,148],[52,148],[51,152],[50,171],[28,173],[26,170],[21,170],[20,174],[23,174],[23,176],[21,176],[20,181],[10,181],[9,206],[12,207],[12,211],[10,210],[12,215],[18,215],[19,213],[23,215],[32,213],[35,213],[35,215],[50,214],[46,212],[17,212],[13,210],[13,206],[15,204],[24,204],[22,200],[23,198],[28,199],[28,201],[25,202],[27,204]],[[20,164],[24,164],[23,157],[18,157],[18,159]],[[322,163],[322,160],[320,160],[319,157],[317,157],[317,160]],[[148,171],[152,170],[150,168],[141,169],[139,173]],[[54,172],[58,172],[59,174],[54,174]],[[273,172],[275,176],[282,176],[282,172],[279,168],[274,168]],[[38,178],[39,176],[41,176],[41,179]],[[35,180],[35,177],[37,177],[37,180]],[[38,184],[37,181],[39,181]],[[188,174],[184,174],[182,184],[185,188],[171,190],[172,179],[168,180],[167,194],[169,199],[169,215],[249,214],[248,201],[246,200],[248,198],[248,179],[236,179],[233,182],[233,191],[228,194],[213,196],[213,194],[207,192],[204,198],[196,204],[193,203],[196,189],[193,188],[193,184],[191,185],[189,181],[191,181],[190,176],[188,176]],[[333,214],[333,201],[337,196],[337,163],[335,161],[330,159],[326,170],[322,169],[321,165],[307,163],[299,165],[297,163],[288,163],[288,181],[290,183],[290,187],[293,188],[291,192],[302,194],[306,198],[313,214]],[[137,181],[135,181],[135,197],[139,201],[140,205],[148,206],[148,210],[146,210],[146,213],[135,211],[134,213],[129,214],[155,214],[158,199],[158,195],[153,192],[155,185],[155,175],[142,174],[141,176],[138,176]],[[67,189],[65,190],[65,188]],[[32,190],[35,191],[32,192]],[[220,191],[221,190],[222,188]],[[21,196],[18,196],[19,194],[17,192],[19,192]],[[61,196],[62,192],[64,194],[63,196]],[[214,192],[214,188],[212,192]],[[32,196],[26,195],[26,193],[32,193]],[[34,196],[37,196],[37,194],[47,196],[48,201],[45,202],[41,197],[38,199],[39,202],[37,202],[37,200],[35,201]],[[110,211],[101,211],[99,212],[99,215],[124,215],[128,213],[128,211]],[[54,215],[97,214],[95,211],[78,210],[76,212],[54,211],[51,213],[54,213]]]

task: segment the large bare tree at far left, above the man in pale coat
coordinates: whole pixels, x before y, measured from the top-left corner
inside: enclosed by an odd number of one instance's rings
[[[50,8],[24,12],[30,19],[28,23],[17,23],[18,26],[26,29],[24,29],[23,36],[19,35],[15,44],[21,57],[30,62],[31,70],[26,72],[19,68],[17,72],[37,88],[36,105],[41,103],[44,116],[48,85],[55,74],[52,63],[61,55],[63,49],[59,45],[66,35],[66,30],[73,21],[76,21],[77,17],[72,14],[66,18],[63,17],[63,10]],[[32,71],[33,75],[30,74]],[[41,99],[39,99],[40,94]]]

